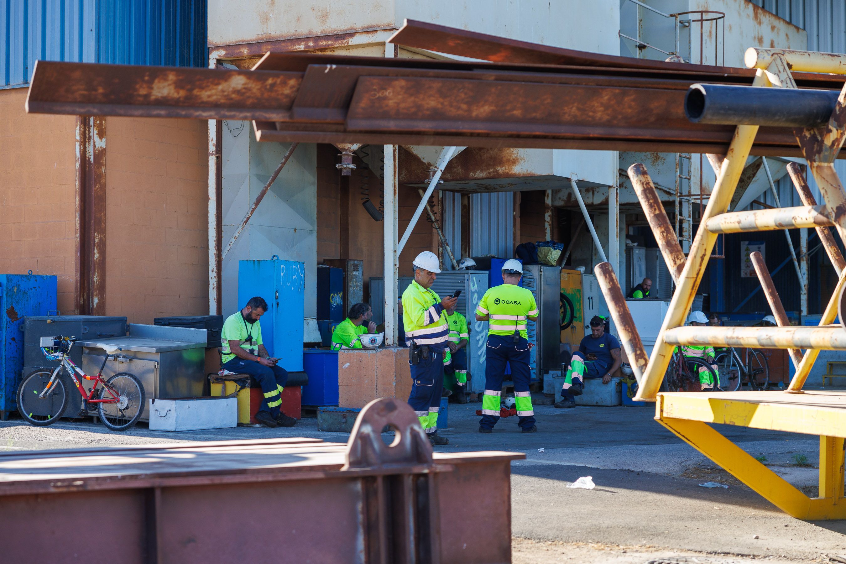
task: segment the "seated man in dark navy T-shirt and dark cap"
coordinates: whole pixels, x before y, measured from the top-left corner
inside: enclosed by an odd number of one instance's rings
[[[582,394],[585,378],[602,378],[602,383],[607,384],[620,364],[623,364],[620,342],[617,337],[605,332],[605,318],[594,315],[591,319],[591,334],[581,340],[579,350],[570,359],[561,390],[563,400],[556,403],[555,407],[576,407],[574,397]]]

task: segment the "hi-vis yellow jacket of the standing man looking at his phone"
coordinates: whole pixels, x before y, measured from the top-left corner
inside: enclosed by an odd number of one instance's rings
[[[441,298],[431,288],[411,282],[403,293],[403,328],[405,342],[428,345],[442,351],[447,345],[447,315],[443,314]]]

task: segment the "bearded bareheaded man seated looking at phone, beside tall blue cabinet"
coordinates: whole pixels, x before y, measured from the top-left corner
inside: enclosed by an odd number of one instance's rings
[[[221,331],[223,369],[235,374],[249,374],[261,386],[264,398],[255,420],[268,427],[293,427],[297,420],[288,417],[279,406],[288,372],[277,366],[279,359],[267,353],[261,341],[259,318],[267,311],[260,296],[250,298],[244,309],[229,315]]]

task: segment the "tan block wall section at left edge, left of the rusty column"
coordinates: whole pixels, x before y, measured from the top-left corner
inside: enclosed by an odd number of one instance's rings
[[[74,311],[74,116],[27,114],[27,89],[0,90],[0,272],[58,277],[58,308]]]

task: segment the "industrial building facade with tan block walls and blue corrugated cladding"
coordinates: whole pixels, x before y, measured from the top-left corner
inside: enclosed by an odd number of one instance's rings
[[[382,201],[391,189],[393,155],[381,145],[358,147],[354,171],[342,177],[341,149],[299,145],[233,239],[290,145],[259,142],[253,125],[240,121],[27,115],[25,86],[37,59],[251,68],[268,51],[448,58],[386,43],[404,19],[582,51],[730,66],[740,66],[745,47],[846,51],[846,8],[829,0],[390,0],[366,9],[257,0],[237,8],[217,0],[32,5],[19,0],[0,10],[6,210],[0,268],[58,275],[63,312],[128,315],[140,322],[210,310],[228,314],[239,305],[238,261],[273,255],[305,264],[307,318],[316,316],[316,268],[324,260],[362,260],[366,299],[369,278],[385,272],[386,220],[377,221],[363,203],[390,219]],[[173,41],[162,43],[162,37]],[[400,236],[439,150],[395,150]],[[784,177],[788,161],[768,161],[782,205],[798,202]],[[633,162],[649,167],[679,238],[689,239],[713,183],[699,155],[467,149],[449,162],[429,203],[457,259],[510,257],[524,242],[574,241],[569,267],[590,273],[604,252],[621,281],[631,282],[639,271],[629,264],[636,253],[627,249],[654,247],[624,174]],[[751,166],[760,170],[734,209],[774,204],[761,163]],[[585,227],[573,181],[602,249]],[[812,236],[793,237],[802,263],[795,269],[782,264],[787,241],[780,233],[751,243],[764,244],[772,257],[767,262],[777,271],[786,308],[814,315],[831,292],[833,271],[819,260]],[[700,290],[703,307],[750,317],[766,312],[754,293],[755,279],[739,276],[743,244],[750,241],[727,236],[718,245],[724,258],[711,261]],[[398,275],[409,275],[411,259],[426,249],[453,267],[425,213],[397,257]],[[797,271],[805,272],[806,298]],[[668,284],[658,289],[659,295],[670,293]]]

